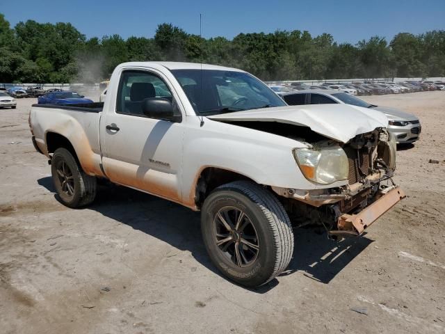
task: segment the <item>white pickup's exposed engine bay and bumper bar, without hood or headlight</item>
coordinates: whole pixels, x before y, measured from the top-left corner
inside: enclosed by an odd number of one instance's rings
[[[360,134],[348,143],[339,143],[309,127],[278,122],[231,122],[232,124],[286,136],[305,143],[312,150],[342,148],[348,158],[348,183],[327,189],[299,190],[272,186],[295,225],[323,225],[332,235],[345,237],[361,234],[368,225],[405,197],[391,177],[396,168],[396,141],[385,128]],[[344,182],[343,182],[344,183]],[[391,196],[385,196],[391,194]],[[385,196],[390,202],[378,203]],[[376,205],[373,205],[375,203]],[[372,206],[372,207],[371,207]],[[389,206],[389,207],[387,207]],[[377,207],[377,208],[376,208]],[[359,214],[370,216],[366,222]],[[378,214],[378,212],[381,212]],[[357,223],[358,222],[358,223]]]

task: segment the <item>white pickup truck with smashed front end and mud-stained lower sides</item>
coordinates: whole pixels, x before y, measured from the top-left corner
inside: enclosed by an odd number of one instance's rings
[[[211,260],[249,287],[286,269],[292,225],[357,236],[404,197],[387,122],[288,106],[242,70],[167,62],[118,65],[103,104],[35,104],[29,118],[63,204],[88,205],[104,178],[200,210]]]

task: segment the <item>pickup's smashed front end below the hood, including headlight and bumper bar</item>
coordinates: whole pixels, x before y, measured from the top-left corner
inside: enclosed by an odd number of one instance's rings
[[[319,223],[332,236],[357,236],[405,197],[391,179],[396,168],[396,142],[385,128],[359,134],[343,145],[332,140],[307,145],[307,149],[294,150],[294,156],[308,180],[327,184],[332,173],[341,173],[348,183],[314,190],[272,186],[297,225]],[[330,152],[326,167],[317,170],[320,162],[314,164],[313,160],[322,160],[325,152]],[[334,169],[334,164],[340,167]],[[336,180],[341,175],[336,175]]]

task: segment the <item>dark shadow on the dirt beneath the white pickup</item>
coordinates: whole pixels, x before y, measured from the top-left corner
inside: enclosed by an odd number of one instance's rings
[[[38,184],[54,193],[58,200],[51,177],[41,178]],[[188,250],[197,262],[224,278],[211,263],[202,243],[199,212],[124,186],[106,183],[98,188],[97,198],[88,209],[165,241],[179,250]],[[314,228],[298,228],[294,233],[293,260],[281,276],[300,272],[325,284],[330,283],[372,242],[366,237],[332,241],[327,239],[325,233],[314,232]],[[275,279],[251,291],[264,294],[277,284],[278,280]]]

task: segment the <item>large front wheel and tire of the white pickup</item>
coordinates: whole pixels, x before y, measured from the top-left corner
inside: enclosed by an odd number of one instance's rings
[[[264,285],[291,261],[289,216],[277,198],[258,184],[236,181],[216,188],[202,206],[201,230],[213,264],[240,285]]]

